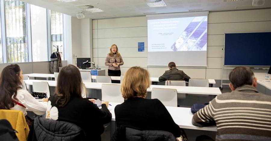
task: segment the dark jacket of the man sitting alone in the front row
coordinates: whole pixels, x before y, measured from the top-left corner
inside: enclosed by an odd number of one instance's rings
[[[182,70],[177,68],[171,68],[170,70],[165,71],[165,73],[159,77],[159,82],[166,80],[184,80],[189,81],[190,77],[186,75]]]

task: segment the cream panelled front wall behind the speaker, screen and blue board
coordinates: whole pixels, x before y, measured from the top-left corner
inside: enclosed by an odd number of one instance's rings
[[[271,32],[271,9],[210,12],[207,35],[207,67],[180,67],[191,78],[228,79],[231,69],[222,74],[224,33]],[[93,60],[104,66],[111,44],[117,44],[123,57],[124,74],[131,66],[148,69],[151,77],[159,77],[168,68],[147,66],[147,18],[130,17],[93,20]],[[145,52],[137,52],[137,43],[145,42]],[[107,72],[107,71],[106,71]],[[259,72],[256,70],[255,72]],[[260,71],[266,72],[266,71]]]

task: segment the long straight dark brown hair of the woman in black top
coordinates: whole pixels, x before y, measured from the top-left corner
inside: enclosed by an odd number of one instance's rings
[[[82,98],[82,78],[79,69],[76,66],[68,65],[63,67],[57,78],[57,87],[55,96],[57,97],[56,104],[60,107],[65,106],[71,96]]]

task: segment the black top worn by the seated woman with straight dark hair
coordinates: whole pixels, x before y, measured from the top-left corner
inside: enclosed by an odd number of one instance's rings
[[[56,104],[56,96],[49,99],[52,107],[58,109],[58,120],[74,123],[81,127],[88,139],[101,140],[101,134],[104,132],[104,124],[111,121],[112,115],[105,104],[101,105],[101,109],[96,104],[90,102],[87,98],[79,98],[72,96],[70,101],[60,107]]]

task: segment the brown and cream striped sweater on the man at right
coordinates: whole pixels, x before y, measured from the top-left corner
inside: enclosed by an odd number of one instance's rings
[[[194,114],[192,124],[209,126],[214,121],[216,140],[271,140],[271,96],[250,85],[217,95]]]

